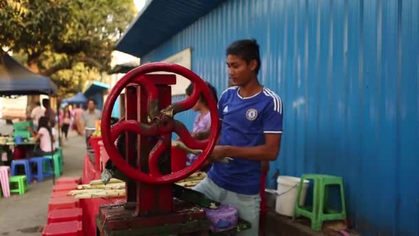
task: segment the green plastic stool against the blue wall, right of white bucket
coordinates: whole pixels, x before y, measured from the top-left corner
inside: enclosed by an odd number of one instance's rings
[[[313,179],[313,206],[300,206],[301,190],[303,182],[306,179]],[[342,199],[342,211],[331,210],[327,208],[328,188],[329,185],[338,185],[340,187],[340,199]],[[294,217],[304,216],[311,219],[311,229],[315,231],[322,230],[323,222],[328,220],[346,219],[345,194],[343,192],[342,177],[331,175],[303,175],[298,186],[298,194],[295,203]]]

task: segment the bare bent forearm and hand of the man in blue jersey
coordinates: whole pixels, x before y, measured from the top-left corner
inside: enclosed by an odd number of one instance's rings
[[[253,147],[216,146],[212,151],[213,160],[224,157],[239,157],[257,161],[274,161],[280,150],[281,134],[265,134],[265,144]]]

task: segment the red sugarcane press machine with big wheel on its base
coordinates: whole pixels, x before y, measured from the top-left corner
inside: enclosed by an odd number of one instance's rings
[[[187,99],[172,104],[174,74],[194,83],[194,91]],[[124,89],[125,117],[111,126],[112,108]],[[174,119],[179,112],[192,108],[200,95],[208,101],[211,111],[210,137],[205,140],[192,138],[185,125]],[[147,63],[121,78],[103,106],[101,133],[110,161],[126,179],[127,202],[101,206],[96,216],[97,233],[206,235],[210,222],[203,207],[217,208],[219,203],[174,183],[192,175],[207,161],[218,138],[218,122],[216,101],[210,89],[187,68],[171,63]],[[192,165],[175,172],[170,168],[172,133],[188,148],[202,150]],[[117,145],[123,135],[123,145]]]

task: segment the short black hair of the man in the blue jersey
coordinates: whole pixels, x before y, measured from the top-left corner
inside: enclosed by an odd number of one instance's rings
[[[235,55],[241,57],[243,60],[250,63],[252,60],[256,60],[258,62],[258,66],[256,66],[256,75],[260,69],[260,54],[259,54],[259,45],[256,42],[256,39],[241,39],[238,41],[234,41],[230,44],[225,51],[225,54],[228,55]]]

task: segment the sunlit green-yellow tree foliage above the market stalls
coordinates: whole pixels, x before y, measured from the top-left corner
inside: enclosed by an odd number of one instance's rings
[[[62,95],[110,70],[115,43],[136,14],[132,0],[0,0],[0,8],[1,48],[51,77]]]

